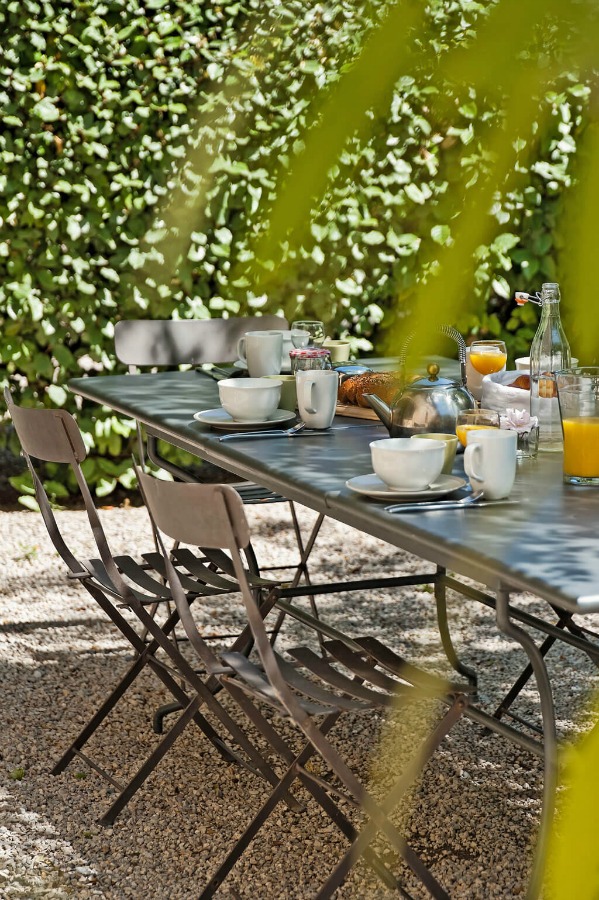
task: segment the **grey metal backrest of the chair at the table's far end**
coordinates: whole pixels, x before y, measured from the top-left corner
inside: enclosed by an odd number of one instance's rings
[[[128,366],[231,362],[246,331],[286,330],[281,316],[231,319],[127,319],[114,327],[117,358]]]

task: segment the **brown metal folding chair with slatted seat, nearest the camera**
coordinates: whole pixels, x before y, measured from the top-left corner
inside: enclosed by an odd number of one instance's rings
[[[433,897],[446,898],[444,889],[407,844],[390,816],[443,737],[463,714],[466,697],[459,688],[411,666],[377,639],[348,637],[321,619],[279,599],[276,608],[302,623],[310,633],[312,643],[315,643],[316,635],[324,637],[328,652],[328,657],[323,659],[311,647],[300,646],[289,650],[289,658],[284,658],[271,645],[264,610],[256,603],[243,569],[241,553],[249,545],[250,533],[242,502],[235,491],[227,485],[165,483],[141,472],[138,477],[164,556],[172,595],[191,645],[208,674],[234,698],[282,768],[274,790],[221,863],[201,897],[213,896],[278,803],[288,802],[292,786],[299,781],[349,841],[347,852],[321,886],[318,898],[330,897],[360,857],[387,886],[409,896],[372,848],[379,832]],[[200,508],[203,510],[201,517],[197,514]],[[178,573],[164,549],[163,534],[177,541],[205,545],[230,554],[258,652],[257,663],[235,650],[216,654],[208,648],[190,614]],[[438,698],[447,707],[446,712],[423,740],[418,753],[411,757],[387,796],[376,801],[327,735],[345,712],[380,712],[398,701],[419,700],[424,695]],[[296,727],[303,738],[299,753],[277,730],[276,718],[265,716],[263,706]],[[314,767],[309,765],[315,755],[324,762],[329,777],[316,774]],[[367,819],[361,831],[342,810],[342,805],[346,804],[359,808]]]

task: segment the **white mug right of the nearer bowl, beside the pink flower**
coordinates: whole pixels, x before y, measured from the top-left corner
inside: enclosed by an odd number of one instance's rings
[[[481,491],[487,500],[509,497],[516,477],[515,431],[489,428],[468,432],[464,469],[473,491]]]

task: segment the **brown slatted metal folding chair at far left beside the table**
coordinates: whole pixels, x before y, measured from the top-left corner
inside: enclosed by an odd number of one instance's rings
[[[184,547],[171,551],[166,560],[155,550],[142,554],[141,561],[130,556],[113,557],[81,471],[86,450],[73,417],[60,409],[26,409],[16,406],[8,388],[5,389],[4,396],[21,442],[23,455],[33,477],[42,517],[54,547],[69,570],[69,577],[78,581],[88,591],[135,652],[134,662],[56,763],[52,773],[59,774],[77,757],[116,787],[118,796],[100,819],[101,824],[112,824],[185,727],[193,721],[223,759],[243,765],[273,785],[276,784],[278,778],[272,768],[216,699],[215,694],[220,689],[220,684],[214,679],[209,681],[205,673],[195,671],[177,644],[171,640],[173,629],[179,622],[179,610],[182,605],[189,610],[191,604],[202,597],[227,595],[239,591],[232,560],[218,548],[208,549],[204,555],[201,550],[199,553],[193,553]],[[100,559],[80,560],[70,550],[60,532],[43,484],[36,472],[34,460],[61,463],[71,467],[85,504]],[[168,572],[173,571],[174,566],[178,572],[177,586],[183,594],[179,597],[178,607],[166,616],[162,624],[158,624],[151,610],[156,604],[163,604],[171,599],[165,579]],[[253,585],[251,590],[256,591],[260,597],[266,614],[276,595],[271,592],[262,597],[262,589],[270,587],[271,582],[250,571],[247,573],[247,579]],[[127,613],[133,613],[133,624]],[[147,631],[148,640],[144,640],[138,634],[135,624],[141,624]],[[245,627],[233,641],[232,649],[243,655],[249,652],[251,645],[251,632]],[[162,682],[182,712],[135,776],[124,784],[118,782],[89,757],[84,747],[146,667]],[[232,739],[243,751],[243,756],[221,737],[203,712],[200,712],[201,708],[210,713],[211,718],[216,719],[219,727],[228,733],[228,739]],[[296,805],[291,799],[289,803]]]

